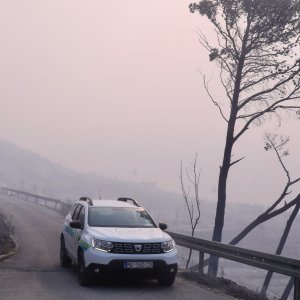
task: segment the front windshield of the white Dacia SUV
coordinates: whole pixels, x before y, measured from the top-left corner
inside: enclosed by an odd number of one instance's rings
[[[144,209],[135,207],[90,207],[88,221],[92,227],[156,227]]]

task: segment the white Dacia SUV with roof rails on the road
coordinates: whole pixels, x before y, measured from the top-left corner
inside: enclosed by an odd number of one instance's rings
[[[170,286],[177,273],[174,240],[135,200],[81,197],[65,218],[60,237],[60,264],[75,262],[79,283],[93,275],[145,275]]]

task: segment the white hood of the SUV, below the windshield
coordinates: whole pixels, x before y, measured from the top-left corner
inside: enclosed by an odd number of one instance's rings
[[[171,239],[160,228],[90,227],[89,233],[94,238],[123,243],[157,243]]]

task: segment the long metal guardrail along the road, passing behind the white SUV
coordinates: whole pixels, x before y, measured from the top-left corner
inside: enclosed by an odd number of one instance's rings
[[[2,187],[1,191],[7,195],[22,198],[23,200],[35,202],[38,205],[54,209],[63,215],[66,215],[71,207],[70,204],[64,203],[61,200],[24,191],[6,187]],[[294,285],[294,300],[300,300],[300,260],[208,241],[175,232],[167,231],[167,233],[173,237],[177,245],[199,252],[199,272],[203,273],[204,254],[212,254],[249,266],[290,276],[292,278],[290,282]],[[290,290],[286,289],[281,300],[286,300],[289,292]]]

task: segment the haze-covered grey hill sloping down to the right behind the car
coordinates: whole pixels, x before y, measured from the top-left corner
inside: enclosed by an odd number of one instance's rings
[[[163,206],[180,201],[179,195],[164,192],[154,183],[80,173],[7,141],[0,141],[0,184],[72,202],[83,195],[98,197],[99,185],[104,198],[128,196],[144,205],[154,201]]]

